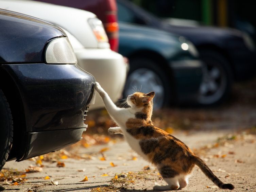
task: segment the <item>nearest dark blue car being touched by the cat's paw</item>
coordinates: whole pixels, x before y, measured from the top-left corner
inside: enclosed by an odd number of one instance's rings
[[[95,79],[57,26],[0,10],[0,170],[81,139]]]

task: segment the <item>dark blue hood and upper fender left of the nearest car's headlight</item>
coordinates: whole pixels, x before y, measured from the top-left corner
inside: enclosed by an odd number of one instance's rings
[[[42,52],[47,41],[66,36],[61,29],[46,21],[3,10],[0,10],[0,25],[4,26],[0,30],[0,64],[43,63]]]

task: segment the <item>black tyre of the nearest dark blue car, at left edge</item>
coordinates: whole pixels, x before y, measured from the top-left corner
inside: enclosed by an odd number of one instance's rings
[[[11,150],[13,141],[13,118],[10,106],[0,89],[0,170]]]

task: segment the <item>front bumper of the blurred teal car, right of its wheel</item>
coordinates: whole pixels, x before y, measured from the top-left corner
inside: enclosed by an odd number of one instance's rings
[[[180,104],[196,102],[202,82],[202,62],[200,60],[172,61],[176,101]]]

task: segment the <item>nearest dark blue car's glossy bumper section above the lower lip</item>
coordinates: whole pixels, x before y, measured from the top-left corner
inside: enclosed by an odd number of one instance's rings
[[[20,91],[26,131],[84,128],[95,79],[77,65],[2,65]]]

